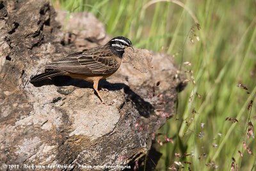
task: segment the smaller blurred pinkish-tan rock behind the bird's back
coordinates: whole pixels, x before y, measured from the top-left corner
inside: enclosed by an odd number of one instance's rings
[[[57,10],[55,18],[65,30],[64,42],[72,43],[74,49],[105,45],[112,37],[106,33],[104,25],[90,12],[69,13]]]

